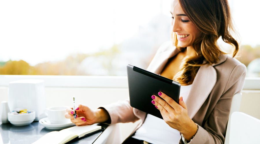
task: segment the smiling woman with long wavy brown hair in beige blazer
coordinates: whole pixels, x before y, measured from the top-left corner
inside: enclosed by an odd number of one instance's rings
[[[244,85],[246,67],[233,57],[238,43],[232,30],[227,0],[175,0],[172,3],[174,46],[159,48],[148,71],[181,83],[179,104],[163,92],[151,96],[164,120],[130,106],[129,101],[97,110],[79,105],[76,125],[135,122],[138,127],[125,143],[224,143],[231,100]],[[233,57],[217,45],[220,38],[235,47]]]

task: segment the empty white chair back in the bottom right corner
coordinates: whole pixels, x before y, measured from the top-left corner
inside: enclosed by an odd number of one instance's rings
[[[230,144],[259,143],[260,120],[242,112],[231,115]]]

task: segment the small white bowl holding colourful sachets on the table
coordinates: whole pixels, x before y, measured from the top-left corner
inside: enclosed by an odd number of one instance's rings
[[[35,111],[25,114],[8,113],[8,121],[15,126],[25,126],[31,124],[35,119]]]

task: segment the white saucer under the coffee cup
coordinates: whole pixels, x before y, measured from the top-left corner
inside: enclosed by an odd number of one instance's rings
[[[70,126],[75,126],[73,122],[68,122],[65,124],[51,124],[48,118],[42,118],[39,120],[39,123],[44,126],[45,128],[48,129],[63,129],[63,128],[68,128]]]

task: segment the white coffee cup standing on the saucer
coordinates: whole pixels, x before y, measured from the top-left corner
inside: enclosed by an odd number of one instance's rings
[[[67,107],[49,107],[44,110],[51,124],[65,124],[70,122],[70,119],[65,118]]]

